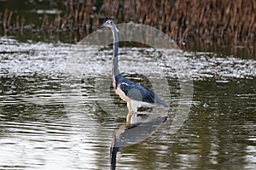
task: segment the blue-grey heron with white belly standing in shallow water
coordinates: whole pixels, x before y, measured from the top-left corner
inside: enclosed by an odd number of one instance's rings
[[[137,82],[131,82],[125,78],[119,71],[119,30],[115,26],[113,20],[107,20],[100,25],[102,27],[109,27],[113,33],[113,58],[112,58],[112,82],[113,91],[118,94],[121,99],[127,102],[128,114],[126,122],[137,122],[137,110],[140,107],[152,107],[154,105],[165,105],[166,101],[160,99],[153,91],[144,88]]]

